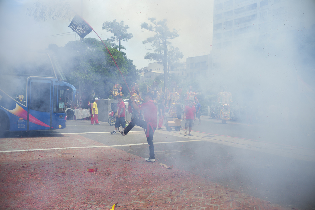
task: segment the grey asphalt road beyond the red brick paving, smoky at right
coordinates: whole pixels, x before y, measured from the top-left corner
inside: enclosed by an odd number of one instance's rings
[[[142,158],[148,157],[142,128],[135,127],[127,136],[112,135],[114,127],[100,123],[68,121],[63,130],[12,133],[6,137],[79,133]],[[155,132],[153,142],[159,163],[285,207],[315,209],[315,150],[311,138],[312,135],[302,130],[288,130],[285,126],[222,124],[202,116],[202,125],[193,127],[192,136],[184,137],[183,130],[166,131],[164,127]]]

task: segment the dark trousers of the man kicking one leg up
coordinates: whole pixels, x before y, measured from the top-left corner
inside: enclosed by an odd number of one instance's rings
[[[124,132],[125,134],[127,135],[128,132],[133,128],[135,127],[135,125],[138,125],[140,126],[141,128],[144,128],[147,131],[147,128],[148,128],[148,123],[144,120],[140,120],[138,118],[134,118],[130,121],[130,123],[128,124],[128,126],[125,128]],[[156,128],[153,128],[154,131],[156,130]],[[153,145],[153,130],[151,128],[151,126],[149,125],[149,137],[146,137],[146,141],[148,142],[148,145],[149,145],[149,152],[150,152],[150,159],[155,159],[155,156],[154,156],[154,145]]]

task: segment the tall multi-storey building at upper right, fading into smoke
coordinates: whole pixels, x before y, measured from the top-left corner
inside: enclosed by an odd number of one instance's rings
[[[296,0],[214,0],[213,68],[220,68],[228,49],[263,46],[277,36],[298,30]],[[280,34],[280,35],[279,35]]]

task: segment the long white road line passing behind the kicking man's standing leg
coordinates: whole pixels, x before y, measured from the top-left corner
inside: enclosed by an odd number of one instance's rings
[[[166,143],[179,143],[179,142],[191,142],[200,140],[188,140],[188,141],[167,141],[167,142],[154,142],[154,144],[166,144]],[[26,151],[38,151],[38,150],[57,150],[57,149],[84,149],[84,148],[101,148],[101,147],[116,147],[116,146],[137,146],[144,145],[148,143],[138,143],[138,144],[121,144],[121,145],[111,145],[111,146],[76,146],[76,147],[60,147],[60,148],[46,148],[46,149],[25,149],[25,150],[4,150],[0,152],[26,152]]]

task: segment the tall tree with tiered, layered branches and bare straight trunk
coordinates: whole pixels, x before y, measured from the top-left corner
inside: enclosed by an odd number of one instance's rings
[[[168,85],[168,75],[167,75],[167,62],[168,62],[168,49],[167,47],[171,45],[170,39],[178,37],[176,29],[170,31],[167,27],[167,20],[156,21],[156,18],[148,19],[152,24],[147,24],[146,22],[141,23],[141,29],[146,29],[147,31],[152,31],[155,33],[154,36],[147,38],[142,41],[143,44],[152,43],[152,50],[154,52],[146,53],[145,59],[162,61],[164,69],[164,87]]]

